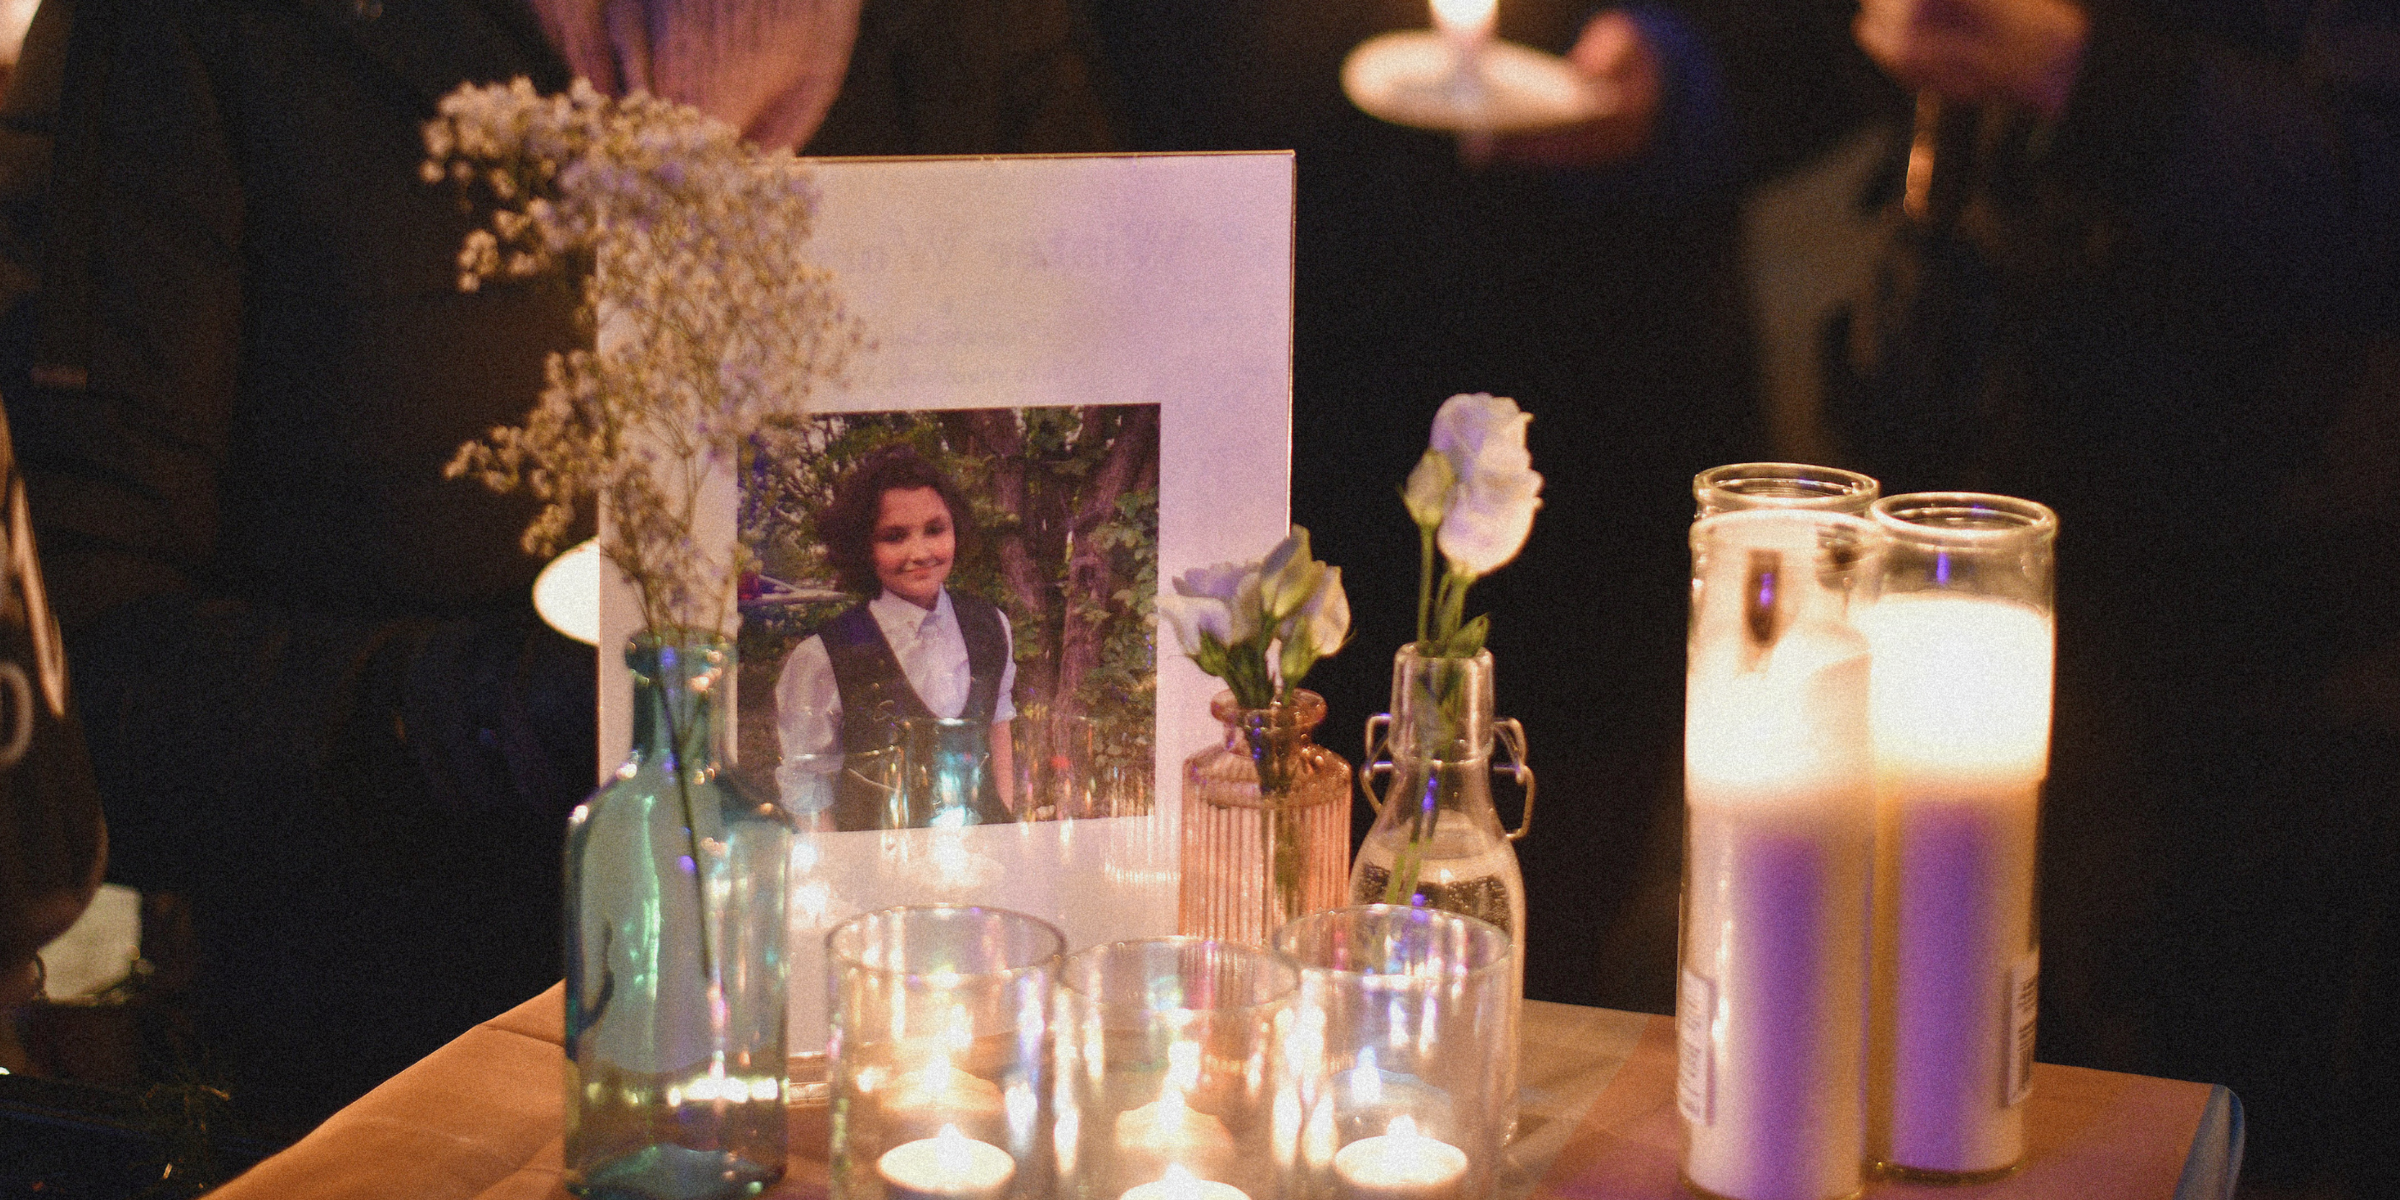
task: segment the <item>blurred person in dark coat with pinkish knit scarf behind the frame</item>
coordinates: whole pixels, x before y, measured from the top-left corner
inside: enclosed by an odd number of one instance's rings
[[[1061,0],[50,0],[0,106],[0,389],[110,878],[190,898],[235,1102],[302,1130],[559,977],[595,655],[530,509],[442,480],[586,338],[456,288],[463,82],[576,74],[806,154],[1104,149]],[[605,650],[614,658],[614,648]]]

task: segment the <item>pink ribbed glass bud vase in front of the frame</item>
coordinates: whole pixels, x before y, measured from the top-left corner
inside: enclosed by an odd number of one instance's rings
[[[1349,763],[1318,746],[1325,698],[1241,708],[1219,691],[1224,742],[1183,761],[1186,936],[1265,946],[1284,922],[1342,905],[1349,876]]]

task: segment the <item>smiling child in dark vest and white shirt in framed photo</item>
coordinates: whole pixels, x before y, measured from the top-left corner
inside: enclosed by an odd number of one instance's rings
[[[998,605],[946,586],[974,535],[958,485],[914,449],[888,446],[842,478],[818,528],[842,590],[869,600],[785,658],[775,682],[785,758],[864,761],[907,744],[919,761],[931,751],[948,763],[941,804],[905,814],[893,811],[900,797],[871,785],[881,770],[842,770],[833,797],[842,830],[1010,821],[1015,641]]]

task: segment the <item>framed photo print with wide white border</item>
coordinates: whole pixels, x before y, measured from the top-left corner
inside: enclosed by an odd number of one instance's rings
[[[746,480],[737,775],[792,814],[794,1046],[823,931],[984,902],[1171,934],[1217,682],[1154,598],[1289,526],[1289,154],[806,161],[850,377]],[[602,586],[600,646],[634,605]],[[602,763],[629,694],[602,672]]]

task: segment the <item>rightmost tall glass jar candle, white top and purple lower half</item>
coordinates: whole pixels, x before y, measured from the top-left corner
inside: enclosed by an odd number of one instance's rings
[[[1891,547],[1860,622],[1879,806],[1870,1154],[1894,1176],[1982,1181],[2026,1157],[2059,518],[1915,492],[1879,499],[1874,523]]]

